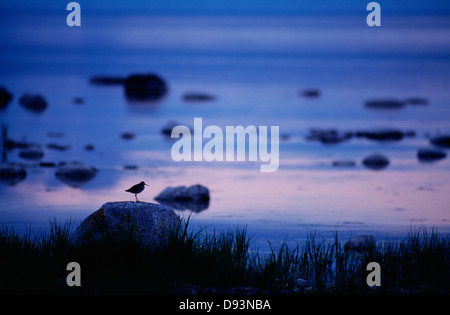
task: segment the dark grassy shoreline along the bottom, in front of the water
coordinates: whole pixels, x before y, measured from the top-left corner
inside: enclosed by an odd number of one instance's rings
[[[133,237],[102,245],[71,243],[70,224],[51,222],[49,233],[0,232],[2,294],[62,295],[448,295],[450,238],[436,230],[409,231],[401,242],[344,248],[338,234],[311,234],[295,248],[249,250],[245,229],[199,237],[189,221],[173,229],[168,245],[151,252]],[[31,230],[30,230],[31,231]],[[372,246],[373,245],[373,246]],[[69,287],[69,262],[81,267],[81,286]],[[381,286],[369,287],[368,262],[379,262]],[[113,263],[115,262],[115,263]]]

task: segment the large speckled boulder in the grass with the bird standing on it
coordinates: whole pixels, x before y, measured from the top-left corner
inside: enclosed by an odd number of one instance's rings
[[[148,202],[107,202],[75,229],[72,242],[126,241],[135,237],[143,245],[164,245],[168,231],[180,222],[175,212]]]

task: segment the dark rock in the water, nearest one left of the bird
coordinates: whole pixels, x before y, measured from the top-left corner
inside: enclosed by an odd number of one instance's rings
[[[93,167],[78,162],[62,163],[58,166],[55,176],[71,187],[81,187],[91,181],[97,173]]]

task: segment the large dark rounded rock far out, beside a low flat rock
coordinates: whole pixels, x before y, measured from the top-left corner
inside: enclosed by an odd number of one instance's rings
[[[130,101],[156,101],[167,93],[166,82],[155,74],[133,74],[124,81]]]

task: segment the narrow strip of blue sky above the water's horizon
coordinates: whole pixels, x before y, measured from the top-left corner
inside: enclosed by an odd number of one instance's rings
[[[65,10],[71,0],[1,1],[0,10]],[[79,0],[84,12],[356,13],[371,0]],[[379,0],[383,13],[450,15],[449,0]]]

